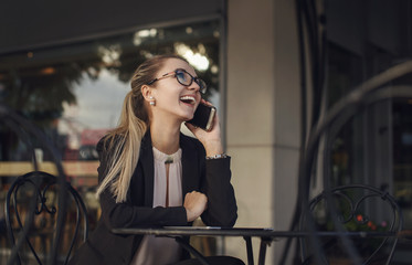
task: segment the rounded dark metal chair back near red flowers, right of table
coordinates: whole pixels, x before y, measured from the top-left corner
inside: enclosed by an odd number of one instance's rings
[[[392,259],[397,235],[403,226],[402,212],[388,192],[370,186],[351,184],[324,191],[309,202],[316,231],[383,232],[379,237],[348,237],[347,242],[360,257],[361,264],[389,264]],[[300,220],[300,230],[307,231],[307,216]],[[392,234],[385,236],[385,233]],[[339,236],[320,237],[321,258],[325,264],[353,264],[348,248]],[[315,264],[314,248],[308,239],[300,240],[304,264]],[[340,264],[340,263],[339,263]]]

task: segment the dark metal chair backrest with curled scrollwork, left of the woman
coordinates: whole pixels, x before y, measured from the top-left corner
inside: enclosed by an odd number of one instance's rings
[[[82,198],[68,182],[50,173],[18,177],[8,191],[4,211],[12,264],[66,264],[73,250],[87,239]]]

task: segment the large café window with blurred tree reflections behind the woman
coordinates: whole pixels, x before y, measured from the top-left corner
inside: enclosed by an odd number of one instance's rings
[[[0,56],[0,105],[41,128],[62,157],[72,184],[97,211],[97,141],[117,125],[136,67],[155,54],[177,53],[208,84],[203,96],[220,106],[221,22],[211,20],[91,39]],[[184,131],[183,131],[184,132]],[[0,181],[33,170],[56,172],[52,155],[33,137],[31,147],[0,124]],[[34,149],[34,151],[33,151]],[[2,197],[4,198],[4,197]]]

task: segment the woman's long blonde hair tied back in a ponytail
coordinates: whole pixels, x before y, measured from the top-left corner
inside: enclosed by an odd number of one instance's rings
[[[168,59],[187,62],[178,55],[158,55],[145,61],[135,71],[131,91],[125,97],[118,126],[105,137],[104,147],[112,153],[107,173],[97,189],[97,197],[109,188],[117,203],[126,201],[131,176],[139,160],[141,139],[149,127],[141,86],[156,78],[157,72]]]

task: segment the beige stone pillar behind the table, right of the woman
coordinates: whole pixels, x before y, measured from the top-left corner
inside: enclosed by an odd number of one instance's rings
[[[228,152],[239,205],[236,226],[287,230],[296,198],[299,141],[294,1],[229,0]],[[258,240],[254,240],[258,256]],[[267,250],[274,264],[282,243]],[[246,262],[243,239],[228,254]]]

